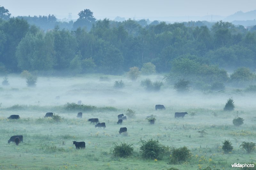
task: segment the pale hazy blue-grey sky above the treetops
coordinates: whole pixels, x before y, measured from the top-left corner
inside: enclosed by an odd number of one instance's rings
[[[0,0],[0,6],[12,16],[38,16],[53,14],[65,18],[72,13],[90,9],[97,19],[116,16],[169,17],[169,16],[228,16],[237,11],[256,10],[256,0]]]

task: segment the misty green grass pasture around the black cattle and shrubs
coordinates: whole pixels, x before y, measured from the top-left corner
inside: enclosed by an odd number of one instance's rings
[[[109,81],[99,81],[102,75],[73,78],[39,77],[35,88],[26,87],[25,80],[9,77],[10,86],[0,90],[0,168],[3,169],[168,169],[180,170],[232,169],[231,164],[256,162],[256,152],[247,154],[239,148],[243,141],[256,143],[255,100],[252,94],[225,92],[188,92],[179,94],[173,87],[164,85],[160,92],[148,92],[140,86],[141,77],[133,82],[121,76],[108,76]],[[150,77],[153,81],[162,76]],[[123,89],[115,89],[115,80],[122,79]],[[55,97],[60,96],[60,100]],[[235,110],[224,112],[229,97],[235,101]],[[83,117],[76,117],[78,110],[68,110],[66,103],[96,106],[83,110]],[[155,110],[163,104],[166,110]],[[107,109],[106,109],[107,108]],[[110,108],[110,109],[109,109]],[[116,109],[113,109],[116,108]],[[117,115],[127,109],[136,117],[127,118],[117,125]],[[59,114],[61,122],[44,119],[46,112]],[[188,112],[184,118],[174,118],[175,112]],[[195,113],[194,116],[191,113]],[[8,120],[10,115],[20,115],[19,120]],[[156,115],[155,124],[145,120]],[[236,127],[232,120],[244,118]],[[87,120],[99,118],[106,129],[95,128]],[[127,127],[127,134],[119,134],[120,127]],[[200,137],[198,130],[207,132]],[[23,135],[18,146],[7,141],[13,135]],[[192,156],[188,161],[167,164],[169,157],[161,160],[143,159],[140,140],[158,139],[170,147],[187,146]],[[222,142],[229,139],[233,151],[224,154]],[[84,141],[85,150],[76,150],[72,141]],[[110,149],[113,143],[133,144],[134,153],[128,158],[115,158]]]

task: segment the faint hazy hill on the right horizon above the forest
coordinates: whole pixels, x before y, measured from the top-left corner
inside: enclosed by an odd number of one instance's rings
[[[256,10],[249,11],[249,12],[242,12],[238,11],[233,15],[229,15],[228,17],[224,18],[224,21],[232,22],[232,21],[246,21],[246,20],[254,20],[256,19]]]

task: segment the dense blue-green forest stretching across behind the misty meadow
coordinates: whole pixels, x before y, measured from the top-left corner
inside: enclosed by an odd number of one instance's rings
[[[254,76],[255,26],[248,30],[223,21],[96,20],[88,9],[78,15],[67,23],[50,14],[11,18],[2,12],[0,72],[120,75],[150,62],[158,73],[170,73],[167,80],[225,82],[234,70]]]

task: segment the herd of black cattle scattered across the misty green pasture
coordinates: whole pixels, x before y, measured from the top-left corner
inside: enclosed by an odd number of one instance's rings
[[[78,103],[80,103],[80,101],[78,101]],[[80,103],[81,104],[81,103]],[[165,110],[165,107],[164,105],[156,105],[155,106],[155,109],[158,110],[158,109],[164,109]],[[187,112],[175,112],[174,114],[174,117],[177,118],[177,117],[184,117],[185,115],[187,115],[188,113]],[[82,112],[79,112],[77,114],[77,117],[78,118],[82,118],[82,115],[83,113]],[[154,116],[154,115],[151,115],[151,116]],[[47,118],[47,117],[53,117],[53,113],[52,112],[48,112],[45,114],[44,118]],[[149,117],[149,116],[147,116]],[[122,124],[123,123],[123,120],[127,120],[127,117],[124,116],[124,114],[120,114],[120,115],[117,115],[117,118],[118,118],[118,122],[117,124]],[[8,117],[8,119],[20,119],[20,116],[19,115],[10,115]],[[101,129],[103,127],[103,129],[106,128],[106,123],[105,122],[101,122],[99,121],[98,118],[91,118],[91,119],[88,119],[88,122],[91,122],[90,124],[94,124],[96,123],[95,125],[95,128],[99,128]],[[122,127],[119,129],[119,134],[121,133],[124,133],[124,132],[127,132],[127,128],[126,127]],[[19,145],[20,142],[23,143],[23,136],[22,135],[16,135],[16,136],[12,136],[9,140],[8,140],[8,144],[10,142],[15,142],[16,145]],[[73,144],[75,144],[76,146],[76,149],[85,149],[85,142],[76,142],[76,141],[73,141]]]

